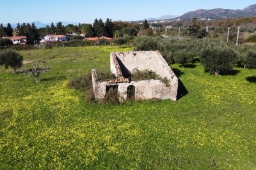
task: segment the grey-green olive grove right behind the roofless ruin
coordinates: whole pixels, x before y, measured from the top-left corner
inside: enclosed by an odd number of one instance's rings
[[[141,37],[134,43],[134,50],[159,50],[168,64],[184,66],[196,58],[213,74],[230,74],[233,66],[256,68],[256,50],[252,46],[235,46],[211,39],[168,39]]]

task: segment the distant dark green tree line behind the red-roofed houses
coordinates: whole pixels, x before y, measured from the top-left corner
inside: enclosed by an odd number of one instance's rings
[[[51,25],[46,25],[44,28],[36,28],[35,24],[17,24],[17,27],[14,29],[8,23],[6,27],[3,27],[3,24],[0,25],[0,38],[4,36],[26,36],[27,42],[32,44],[36,43],[36,40],[40,38],[40,36],[45,36],[47,34],[68,34],[68,33],[77,33],[84,34],[85,37],[102,37],[107,36],[110,38],[133,38],[137,36],[138,32],[141,35],[143,34],[152,34],[152,29],[150,33],[148,33],[149,25],[147,20],[143,22],[142,25],[132,24],[129,22],[116,21],[112,22],[111,19],[107,18],[106,22],[103,22],[100,18],[99,20],[95,18],[93,24],[78,24],[72,25],[69,24],[64,26],[61,22],[57,22],[54,25],[51,22]],[[146,32],[146,33],[143,33]]]

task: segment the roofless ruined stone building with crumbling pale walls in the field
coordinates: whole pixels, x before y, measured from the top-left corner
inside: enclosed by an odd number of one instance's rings
[[[96,70],[92,69],[95,99],[104,99],[111,88],[120,95],[120,101],[125,101],[127,98],[172,101],[177,99],[178,78],[158,51],[111,52],[110,70],[115,74],[115,78],[97,81]],[[165,78],[168,84],[153,79],[132,81],[131,75],[134,70],[155,72],[159,77]]]

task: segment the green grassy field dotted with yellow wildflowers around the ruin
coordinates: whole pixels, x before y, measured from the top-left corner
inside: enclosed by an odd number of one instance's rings
[[[88,104],[70,78],[109,69],[118,46],[20,52],[40,82],[0,67],[0,169],[256,169],[256,70],[173,65],[178,101]]]

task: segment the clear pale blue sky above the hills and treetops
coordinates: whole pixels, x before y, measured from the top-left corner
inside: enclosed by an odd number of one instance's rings
[[[4,0],[1,1],[0,23],[17,24],[41,21],[93,23],[95,18],[143,20],[162,15],[182,15],[188,11],[213,8],[240,9],[253,0]]]

